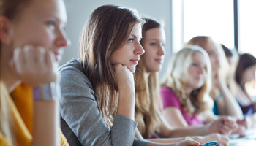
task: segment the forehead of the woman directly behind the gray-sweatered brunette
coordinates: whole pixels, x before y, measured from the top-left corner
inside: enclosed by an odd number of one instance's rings
[[[165,30],[163,28],[151,28],[145,32],[145,39],[157,39],[161,41],[165,41]]]

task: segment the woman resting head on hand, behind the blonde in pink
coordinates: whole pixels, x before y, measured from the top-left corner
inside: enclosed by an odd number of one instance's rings
[[[198,45],[206,50],[209,55],[212,70],[210,96],[214,100],[214,115],[232,116],[238,123],[238,128],[234,132],[244,136],[247,122],[246,120],[239,120],[243,118],[243,112],[227,87],[224,70],[220,69],[221,66],[227,63],[223,50],[208,36],[193,37],[187,45]]]

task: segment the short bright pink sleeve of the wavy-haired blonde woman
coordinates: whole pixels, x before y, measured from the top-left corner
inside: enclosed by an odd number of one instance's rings
[[[176,93],[174,93],[170,88],[163,87],[160,93],[164,109],[167,107],[176,107],[181,110],[181,102],[179,101]]]

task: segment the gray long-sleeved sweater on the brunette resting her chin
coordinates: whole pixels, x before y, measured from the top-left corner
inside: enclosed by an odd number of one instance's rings
[[[70,146],[148,145],[135,139],[137,123],[116,114],[111,131],[102,118],[91,82],[83,74],[80,61],[72,59],[59,68],[61,72],[61,130]]]

